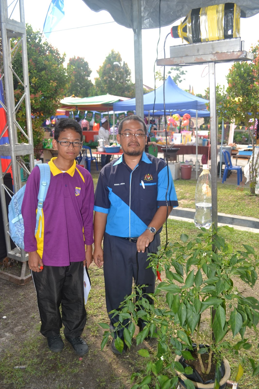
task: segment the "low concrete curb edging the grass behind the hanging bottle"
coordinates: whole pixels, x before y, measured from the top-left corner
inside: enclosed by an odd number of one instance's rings
[[[195,209],[174,208],[170,213],[170,219],[185,220],[193,223]],[[218,225],[228,225],[242,231],[259,233],[259,219],[238,215],[228,215],[218,212]]]

